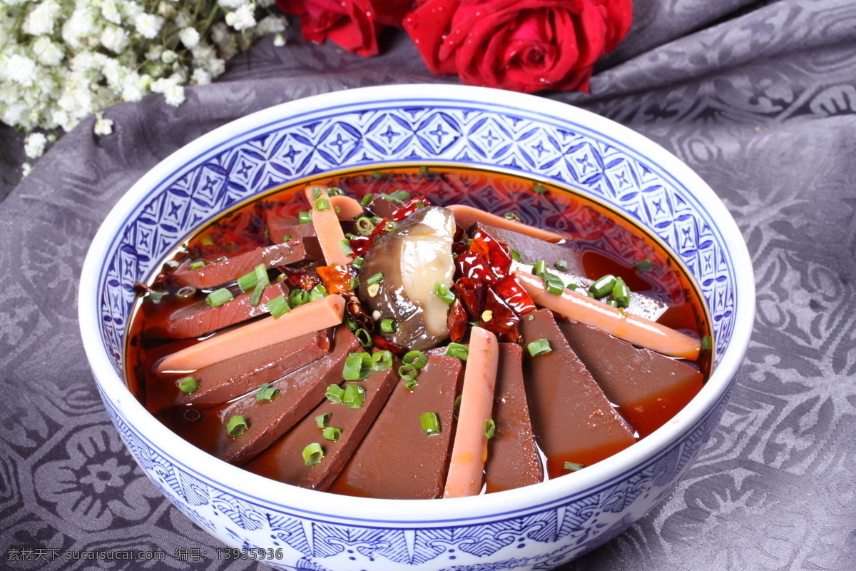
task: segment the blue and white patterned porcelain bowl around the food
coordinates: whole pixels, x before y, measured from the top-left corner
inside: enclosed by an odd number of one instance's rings
[[[272,187],[343,168],[486,166],[575,187],[651,229],[712,318],[716,368],[667,425],[596,466],[490,496],[373,500],[263,479],[146,412],[123,375],[135,281],[201,224]],[[543,98],[464,86],[383,86],[259,111],[206,134],[131,188],[98,231],[80,329],[110,418],[163,494],[224,543],[318,571],[550,569],[614,538],[671,491],[715,429],[754,316],[740,231],[704,181],[645,137]]]

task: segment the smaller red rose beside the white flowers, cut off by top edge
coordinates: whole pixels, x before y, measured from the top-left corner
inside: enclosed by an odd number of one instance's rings
[[[377,34],[384,24],[400,26],[412,0],[276,0],[276,6],[300,16],[305,39],[329,38],[351,53],[376,56]]]

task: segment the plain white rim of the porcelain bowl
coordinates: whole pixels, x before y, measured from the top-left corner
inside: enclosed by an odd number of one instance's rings
[[[428,93],[430,95],[426,95]],[[223,145],[225,141],[262,128],[270,122],[281,121],[288,116],[320,112],[342,106],[359,107],[372,102],[379,104],[411,100],[473,104],[485,110],[507,108],[527,116],[550,116],[554,120],[559,118],[565,122],[580,124],[585,130],[594,130],[620,141],[623,150],[632,150],[632,154],[656,164],[669,174],[675,185],[684,187],[688,193],[690,193],[688,189],[693,188],[691,194],[696,197],[699,204],[704,205],[704,210],[708,212],[710,218],[716,220],[722,241],[731,255],[734,265],[734,288],[736,292],[740,292],[740,295],[735,296],[734,312],[737,317],[734,320],[731,342],[722,354],[715,371],[693,401],[681,409],[666,425],[633,446],[598,462],[597,468],[581,470],[538,485],[502,491],[489,496],[445,500],[390,500],[338,496],[283,484],[249,473],[187,443],[169,431],[134,398],[110,363],[107,349],[99,333],[98,279],[102,261],[110,252],[111,242],[118,229],[146,194],[163,181],[162,173],[174,173],[181,168],[181,165],[199,158],[214,147]],[[725,395],[746,354],[755,314],[755,283],[746,243],[734,218],[722,204],[722,200],[679,158],[645,136],[603,116],[551,99],[486,87],[411,84],[360,87],[277,104],[214,129],[164,158],[123,194],[93,238],[80,277],[78,314],[86,357],[105,403],[109,402],[109,406],[114,407],[116,413],[120,413],[144,442],[153,449],[157,449],[158,453],[168,456],[170,461],[207,485],[232,493],[248,503],[258,505],[261,509],[285,512],[302,519],[345,521],[350,525],[369,527],[407,527],[414,524],[454,525],[455,523],[473,524],[479,520],[496,520],[496,518],[506,519],[568,503],[573,497],[597,491],[614,484],[616,480],[626,477],[629,473],[638,471],[640,467],[656,458],[659,452],[668,449],[671,443],[692,431]],[[92,334],[92,331],[96,333]],[[181,461],[178,460],[179,458]],[[217,478],[210,474],[217,474]],[[253,493],[258,490],[265,490],[265,497],[259,497]],[[367,514],[384,515],[371,517]]]

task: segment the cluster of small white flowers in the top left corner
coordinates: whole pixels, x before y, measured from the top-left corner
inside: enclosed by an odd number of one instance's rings
[[[110,134],[100,111],[150,92],[180,105],[184,86],[210,83],[254,39],[284,44],[273,3],[0,0],[0,121],[30,132],[25,152],[38,158],[49,138],[36,129],[69,131],[98,113],[95,134]]]

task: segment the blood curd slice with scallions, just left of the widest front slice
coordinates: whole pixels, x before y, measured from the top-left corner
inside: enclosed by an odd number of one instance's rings
[[[366,400],[360,408],[350,408],[344,404],[324,400],[318,407],[306,415],[285,436],[273,443],[270,448],[247,462],[244,468],[265,478],[275,479],[286,484],[299,485],[302,488],[324,491],[342,472],[366,431],[380,413],[395,387],[397,377],[392,369],[373,372],[369,378],[358,384],[366,389]],[[338,440],[327,440],[318,428],[316,417],[330,414],[330,426],[342,431]],[[324,449],[324,459],[315,466],[306,466],[303,461],[303,449],[311,443],[319,443]]]

